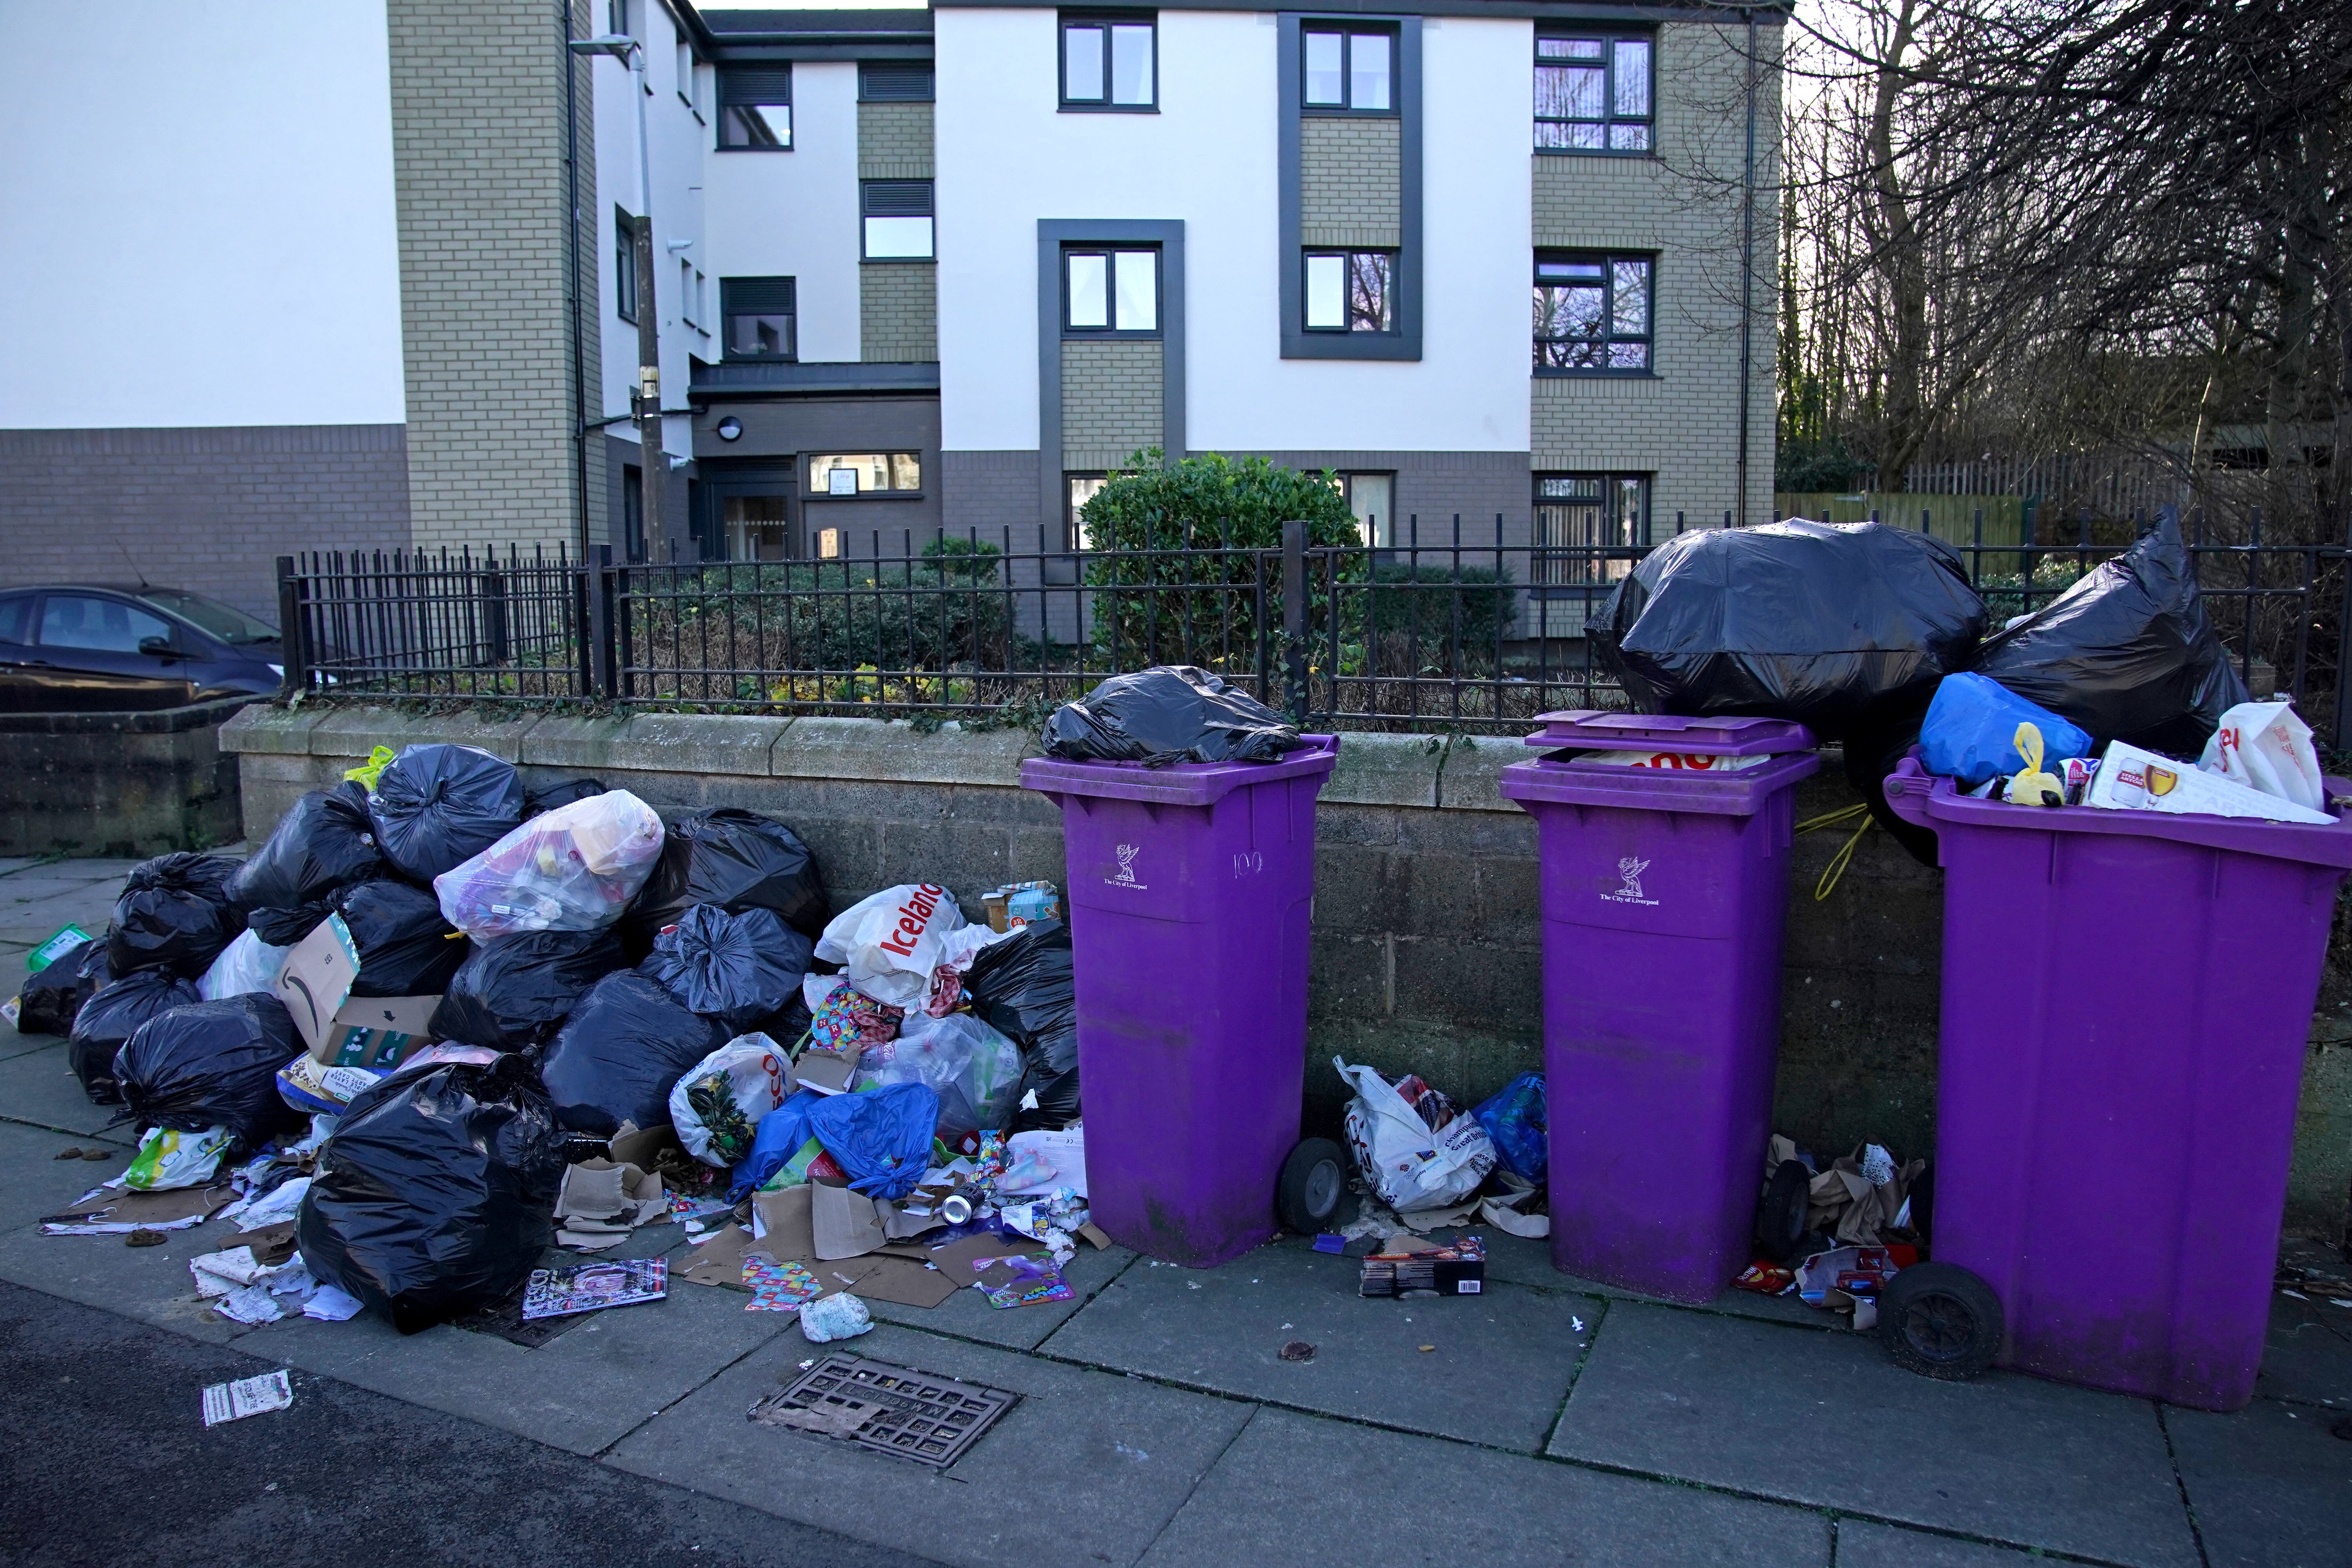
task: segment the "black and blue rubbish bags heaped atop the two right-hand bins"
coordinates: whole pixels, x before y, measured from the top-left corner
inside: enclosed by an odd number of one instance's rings
[[[2173,759],[2321,806],[2298,783],[2307,731],[2298,748],[2284,703],[2251,703],[2171,508],[2002,628],[1959,555],[1926,534],[1804,520],[1682,534],[1618,583],[1592,642],[1644,712],[1797,719],[1842,741],[1870,816],[1929,865],[1933,835],[1886,804],[1886,778],[1915,752],[1994,799],[2310,820],[2204,780],[2178,792]]]

